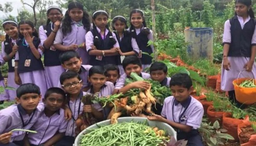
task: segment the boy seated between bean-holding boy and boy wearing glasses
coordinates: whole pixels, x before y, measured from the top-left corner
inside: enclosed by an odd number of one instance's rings
[[[52,87],[46,91],[43,99],[44,112],[31,128],[37,133],[28,134],[31,146],[53,145],[65,136],[68,122],[65,111],[61,109],[65,99],[66,94],[61,88]]]

